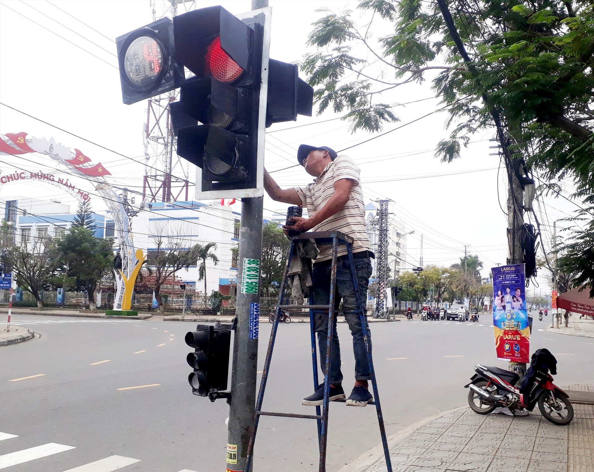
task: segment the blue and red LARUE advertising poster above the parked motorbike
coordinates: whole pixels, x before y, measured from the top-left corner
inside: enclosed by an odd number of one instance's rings
[[[499,266],[493,274],[493,326],[498,360],[530,362],[530,328],[523,264]]]

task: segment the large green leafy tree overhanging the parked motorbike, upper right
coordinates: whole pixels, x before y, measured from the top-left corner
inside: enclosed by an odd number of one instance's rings
[[[508,207],[519,207],[519,214],[510,216],[510,228],[523,227],[522,202],[515,200],[517,187],[529,177],[558,195],[561,188],[555,181],[573,178],[573,196],[589,205],[587,219],[592,222],[592,2],[456,0],[444,5],[443,0],[362,0],[358,10],[371,13],[371,21],[366,15],[362,24],[350,10],[320,10],[324,16],[308,37],[317,51],[301,65],[317,87],[318,111],[331,108],[350,123],[352,132],[375,133],[398,121],[397,103],[384,97],[405,84],[431,80],[440,110],[450,115],[449,136],[435,152],[441,161],[459,158],[472,134],[501,131],[498,138],[508,150],[506,167],[514,188]],[[393,31],[373,37],[381,23]],[[590,223],[564,259],[583,282],[594,282],[592,270],[580,266],[587,260],[580,251],[593,239]],[[517,243],[516,238],[514,250]]]

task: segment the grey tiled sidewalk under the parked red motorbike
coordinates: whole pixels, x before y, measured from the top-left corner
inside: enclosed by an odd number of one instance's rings
[[[479,415],[470,408],[425,424],[390,451],[394,472],[592,472],[594,405],[574,405],[569,426],[538,413]],[[365,469],[386,472],[382,458]]]

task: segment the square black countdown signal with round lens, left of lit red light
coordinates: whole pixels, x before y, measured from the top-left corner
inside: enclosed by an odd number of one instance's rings
[[[116,39],[122,100],[127,105],[176,89],[184,66],[175,61],[173,23],[153,21]]]

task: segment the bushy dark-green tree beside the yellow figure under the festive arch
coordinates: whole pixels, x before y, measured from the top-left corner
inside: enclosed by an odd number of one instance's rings
[[[89,309],[96,310],[97,282],[112,270],[113,238],[96,238],[93,229],[75,226],[55,241],[62,269],[87,291]]]

